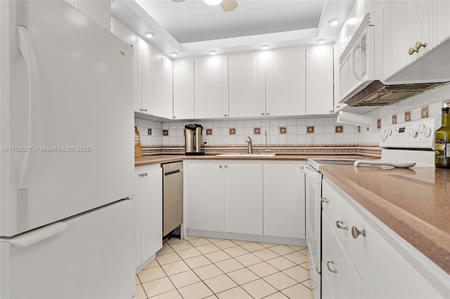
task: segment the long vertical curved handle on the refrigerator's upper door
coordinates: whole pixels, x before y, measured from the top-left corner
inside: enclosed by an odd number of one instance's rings
[[[34,55],[34,49],[30,34],[28,30],[23,26],[18,26],[19,33],[19,50],[25,59],[25,64],[27,65],[28,71],[28,140],[27,147],[32,150],[25,152],[25,156],[22,161],[20,161],[19,166],[19,183],[18,189],[27,189],[30,182],[30,177],[32,175],[32,168],[34,166],[34,159],[37,153],[37,134],[34,133],[33,129],[36,126],[33,124],[37,121],[36,113],[32,114],[32,106],[37,107],[40,102],[41,93],[39,91],[39,73],[37,68],[37,60]],[[32,115],[34,117],[32,117]]]

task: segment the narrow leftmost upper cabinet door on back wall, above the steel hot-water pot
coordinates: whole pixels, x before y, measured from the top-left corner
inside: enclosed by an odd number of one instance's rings
[[[174,65],[174,119],[194,118],[194,60],[177,59]]]

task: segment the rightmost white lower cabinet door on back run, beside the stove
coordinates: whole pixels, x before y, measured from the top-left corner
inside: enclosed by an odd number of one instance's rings
[[[264,165],[264,235],[305,237],[304,172],[298,164]]]

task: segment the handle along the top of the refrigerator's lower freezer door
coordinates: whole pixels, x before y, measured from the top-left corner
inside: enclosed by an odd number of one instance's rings
[[[20,234],[17,237],[11,239],[1,239],[2,242],[6,242],[17,248],[25,248],[37,244],[40,241],[44,241],[51,237],[54,237],[61,232],[64,232],[68,228],[68,224],[65,222],[55,222],[51,225]]]

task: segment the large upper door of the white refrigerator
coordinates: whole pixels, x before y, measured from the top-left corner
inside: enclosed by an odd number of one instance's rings
[[[8,237],[134,193],[133,49],[66,1],[18,3]]]

